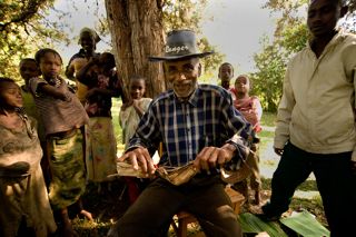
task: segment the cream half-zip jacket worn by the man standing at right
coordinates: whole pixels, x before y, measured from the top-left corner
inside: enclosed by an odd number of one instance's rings
[[[356,161],[356,36],[337,33],[316,58],[310,46],[288,63],[275,147],[314,154],[353,151]]]

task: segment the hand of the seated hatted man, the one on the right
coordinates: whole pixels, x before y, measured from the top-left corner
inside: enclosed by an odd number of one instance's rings
[[[205,147],[198,154],[197,158],[194,160],[192,165],[198,170],[209,171],[211,168],[215,168],[225,162],[228,162],[233,159],[235,154],[235,147],[233,145],[226,144],[221,148],[218,147]]]

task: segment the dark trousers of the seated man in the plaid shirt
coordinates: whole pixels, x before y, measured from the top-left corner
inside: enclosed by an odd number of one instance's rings
[[[119,219],[115,233],[120,237],[167,236],[174,215],[185,210],[197,217],[207,236],[241,236],[219,177],[199,176],[181,186],[154,180]]]

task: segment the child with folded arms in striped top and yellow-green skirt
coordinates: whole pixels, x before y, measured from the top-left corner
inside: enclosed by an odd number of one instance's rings
[[[60,211],[62,235],[72,236],[68,206],[77,203],[80,213],[92,219],[80,204],[80,197],[86,189],[81,128],[88,124],[88,116],[78,98],[59,76],[62,66],[60,55],[46,48],[37,51],[34,59],[42,78],[31,78],[29,86],[44,126],[50,155],[52,177],[49,199],[52,208]]]

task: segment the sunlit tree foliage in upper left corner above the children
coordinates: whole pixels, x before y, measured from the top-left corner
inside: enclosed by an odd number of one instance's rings
[[[44,21],[55,0],[0,1],[0,76],[19,79],[18,63],[39,47],[66,39],[61,22]]]

